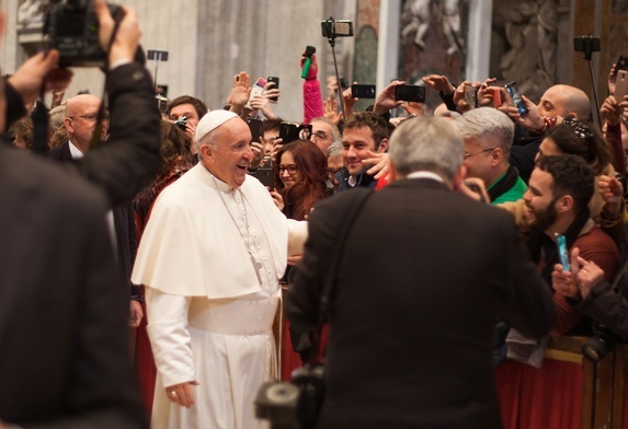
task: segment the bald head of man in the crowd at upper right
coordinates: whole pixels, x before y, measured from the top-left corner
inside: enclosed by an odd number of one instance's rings
[[[553,85],[543,94],[538,112],[547,117],[575,115],[580,119],[587,120],[591,116],[591,100],[579,88]]]

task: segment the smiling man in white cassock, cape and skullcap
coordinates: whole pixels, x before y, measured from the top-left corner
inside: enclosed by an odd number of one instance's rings
[[[236,114],[208,113],[195,140],[199,163],[157,199],[132,277],[158,369],[152,427],[263,427],[253,401],[274,375],[278,279],[307,224],[247,175],[251,134]]]

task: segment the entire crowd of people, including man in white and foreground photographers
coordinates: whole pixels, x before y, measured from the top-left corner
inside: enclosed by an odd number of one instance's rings
[[[321,428],[500,428],[496,368],[543,376],[550,336],[628,335],[615,66],[602,129],[578,88],[522,114],[494,78],[424,77],[433,109],[393,81],[357,112],[316,54],[300,90],[242,71],[224,108],[160,113],[135,11],[94,2],[106,106],[65,97],[55,50],[0,85],[0,428],[261,428],[262,384],[312,361]]]

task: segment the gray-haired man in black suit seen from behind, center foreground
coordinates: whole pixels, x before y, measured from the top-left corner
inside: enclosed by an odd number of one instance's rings
[[[556,315],[512,217],[454,192],[463,153],[442,118],[411,119],[392,135],[393,183],[362,207],[335,274],[319,427],[501,428],[494,321],[540,337]],[[310,215],[287,298],[300,332],[317,326],[339,222],[362,192]]]

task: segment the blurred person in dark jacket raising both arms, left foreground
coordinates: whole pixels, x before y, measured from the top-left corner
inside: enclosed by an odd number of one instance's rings
[[[106,46],[114,22],[104,0],[95,4],[101,45]],[[0,12],[0,30],[3,18]],[[0,143],[0,420],[4,424],[148,427],[128,352],[128,294],[104,220],[107,207],[134,195],[158,167],[151,161],[159,160],[152,85],[147,70],[132,63],[139,36],[135,11],[128,9],[109,53],[112,134],[98,156],[88,154],[64,169]],[[27,61],[27,70],[0,85],[0,131],[19,116],[11,108],[14,102],[26,98],[56,60],[55,51],[47,59],[36,56]],[[25,71],[32,79],[23,79]],[[7,98],[2,89],[8,90]],[[148,156],[141,158],[142,153]]]

